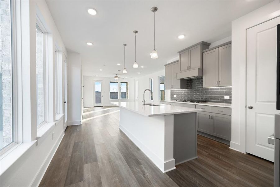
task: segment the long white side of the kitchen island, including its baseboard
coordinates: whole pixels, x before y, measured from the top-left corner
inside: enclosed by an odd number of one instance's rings
[[[165,116],[146,117],[120,108],[119,128],[163,172],[175,169],[173,146],[165,150],[165,142],[173,144],[173,130],[165,131],[165,125]],[[168,125],[170,128],[173,129],[173,123]]]

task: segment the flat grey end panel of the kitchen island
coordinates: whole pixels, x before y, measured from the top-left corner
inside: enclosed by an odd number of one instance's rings
[[[175,165],[197,158],[196,112],[174,115]]]

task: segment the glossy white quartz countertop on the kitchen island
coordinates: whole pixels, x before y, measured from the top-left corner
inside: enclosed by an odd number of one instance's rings
[[[147,117],[152,116],[164,116],[164,115],[172,115],[172,114],[182,114],[182,113],[192,113],[192,112],[200,112],[201,109],[196,108],[188,108],[188,107],[178,107],[165,105],[160,103],[153,103],[159,106],[149,106],[142,105],[141,102],[112,102],[111,104],[119,106],[121,108],[125,108],[135,113],[142,114]],[[146,103],[149,104],[149,103]]]

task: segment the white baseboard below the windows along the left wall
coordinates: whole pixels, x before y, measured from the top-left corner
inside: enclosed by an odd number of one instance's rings
[[[60,134],[59,138],[57,139],[57,141],[55,142],[55,144],[53,145],[52,149],[49,151],[48,156],[46,157],[46,159],[44,160],[43,164],[41,165],[39,171],[37,172],[37,174],[35,175],[34,179],[31,182],[31,186],[39,186],[41,180],[43,179],[49,164],[51,163],[53,156],[55,154],[55,152],[57,151],[57,148],[60,144],[60,142],[62,141],[62,138],[64,137],[64,131],[62,131],[62,133]]]

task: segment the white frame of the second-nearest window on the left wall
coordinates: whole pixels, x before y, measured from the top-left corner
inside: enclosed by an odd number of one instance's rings
[[[44,121],[38,124],[37,122],[37,131],[43,127],[47,123],[47,89],[46,89],[46,84],[47,84],[47,76],[46,76],[46,57],[48,56],[48,32],[42,22],[39,20],[39,18],[36,15],[36,25],[39,27],[39,29],[43,33],[43,73],[44,73]],[[37,82],[36,82],[37,85]],[[37,99],[37,90],[36,90],[36,99]],[[37,107],[37,102],[36,102],[36,107]],[[38,115],[38,114],[37,114]],[[36,116],[37,118],[37,116]]]

